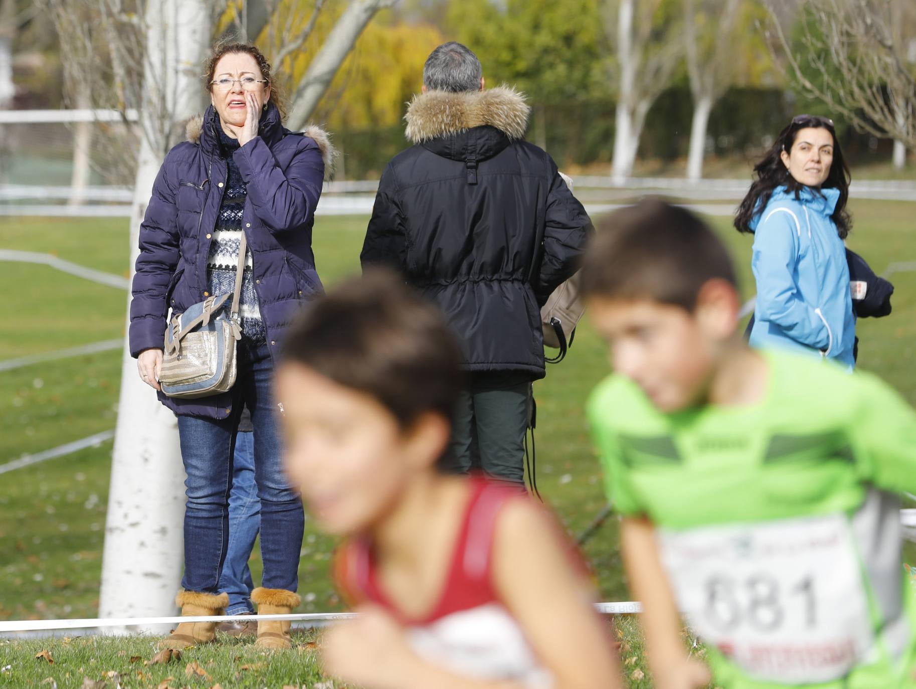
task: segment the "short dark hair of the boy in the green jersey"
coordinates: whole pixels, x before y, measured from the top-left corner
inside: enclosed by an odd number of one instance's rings
[[[611,213],[585,251],[585,296],[650,299],[692,311],[703,284],[724,279],[737,287],[722,240],[683,208],[649,199]]]

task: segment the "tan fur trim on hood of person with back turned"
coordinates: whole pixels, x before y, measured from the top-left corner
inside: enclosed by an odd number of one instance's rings
[[[510,139],[518,139],[525,136],[530,112],[524,93],[510,86],[497,86],[489,91],[420,93],[410,101],[404,119],[412,144],[484,125],[495,126]]]

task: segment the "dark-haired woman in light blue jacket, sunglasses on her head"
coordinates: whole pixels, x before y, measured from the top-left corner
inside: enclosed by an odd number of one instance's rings
[[[735,218],[754,235],[757,306],[750,344],[834,359],[852,369],[856,318],[843,240],[849,170],[834,123],[797,115],[754,168]]]

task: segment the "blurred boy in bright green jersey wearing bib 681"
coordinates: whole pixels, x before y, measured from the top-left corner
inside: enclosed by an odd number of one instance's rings
[[[659,201],[608,216],[582,274],[615,373],[588,413],[660,689],[913,687],[896,493],[916,415],[878,378],[736,336],[728,253]]]

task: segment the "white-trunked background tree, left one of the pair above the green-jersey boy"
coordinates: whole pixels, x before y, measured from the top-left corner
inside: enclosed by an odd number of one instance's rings
[[[679,22],[666,0],[616,0],[608,5],[607,33],[616,37],[617,59],[611,176],[619,184],[633,173],[646,115],[671,84],[683,41],[676,38]]]

